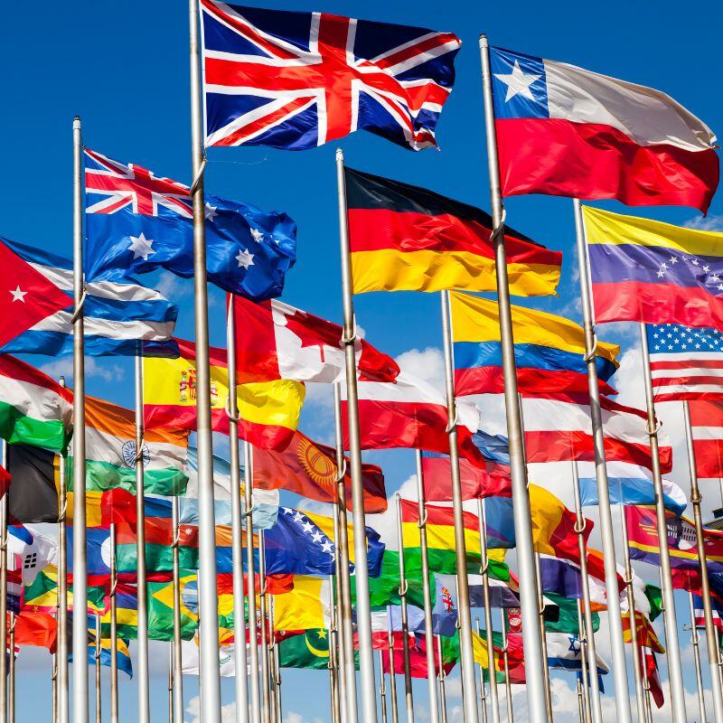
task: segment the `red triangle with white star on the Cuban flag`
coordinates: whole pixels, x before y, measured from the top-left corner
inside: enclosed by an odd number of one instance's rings
[[[0,241],[0,346],[73,299]]]

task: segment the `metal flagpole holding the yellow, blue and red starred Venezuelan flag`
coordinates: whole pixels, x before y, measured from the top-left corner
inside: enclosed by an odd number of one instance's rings
[[[623,622],[620,617],[620,596],[617,587],[617,566],[615,564],[615,534],[613,532],[613,512],[610,508],[610,493],[607,485],[607,467],[605,459],[605,440],[603,436],[603,417],[600,410],[600,388],[597,383],[596,344],[597,336],[593,324],[592,296],[590,279],[587,274],[587,247],[585,229],[582,221],[582,209],[577,199],[574,201],[575,230],[577,236],[577,264],[580,272],[580,296],[582,297],[582,316],[585,329],[585,349],[587,362],[587,387],[590,395],[590,422],[595,446],[595,476],[600,511],[600,536],[603,544],[605,565],[605,587],[607,611],[610,620],[610,654],[613,663],[615,682],[615,709],[618,723],[631,723],[630,691],[627,683],[627,664],[625,662],[625,644],[623,642]],[[592,635],[590,635],[592,638]],[[596,716],[596,706],[593,716]],[[596,718],[597,719],[597,718]]]

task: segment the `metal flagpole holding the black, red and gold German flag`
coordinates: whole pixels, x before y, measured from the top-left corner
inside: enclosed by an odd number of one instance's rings
[[[346,362],[346,399],[349,427],[349,460],[352,467],[352,521],[356,583],[356,620],[359,641],[360,688],[364,723],[376,723],[377,697],[374,684],[374,656],[371,647],[369,569],[364,515],[362,443],[359,433],[359,401],[356,386],[356,321],[352,300],[352,259],[349,252],[349,224],[346,213],[344,155],[336,149],[336,180],[339,190],[339,241],[342,254],[343,339]],[[343,503],[346,501],[344,500]],[[355,718],[354,718],[355,719]]]

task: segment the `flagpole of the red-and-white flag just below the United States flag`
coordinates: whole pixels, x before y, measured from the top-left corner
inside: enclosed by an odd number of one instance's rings
[[[716,628],[713,624],[713,606],[710,603],[708,558],[706,557],[703,518],[700,512],[700,502],[702,502],[703,498],[700,494],[700,487],[698,486],[698,471],[695,464],[695,444],[693,442],[693,430],[690,425],[690,407],[688,401],[683,401],[683,418],[685,419],[685,441],[688,446],[688,468],[690,470],[690,503],[693,505],[693,522],[695,524],[696,548],[700,569],[700,596],[703,599],[703,615],[705,615],[706,621],[710,687],[713,690],[713,716],[716,723],[723,723],[723,690],[721,690],[718,668],[718,643]],[[693,620],[693,627],[695,627],[695,620]]]

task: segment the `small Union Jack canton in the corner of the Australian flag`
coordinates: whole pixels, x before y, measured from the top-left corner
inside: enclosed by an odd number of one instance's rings
[[[130,208],[141,216],[158,216],[163,209],[192,218],[189,188],[183,183],[156,176],[141,165],[118,163],[89,148],[85,149],[85,158],[87,213],[116,213]]]

